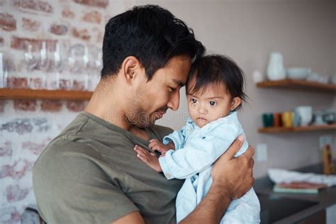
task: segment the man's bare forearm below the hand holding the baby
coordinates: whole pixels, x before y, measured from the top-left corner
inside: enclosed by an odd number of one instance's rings
[[[201,203],[180,223],[219,223],[231,202],[224,189],[213,184]]]

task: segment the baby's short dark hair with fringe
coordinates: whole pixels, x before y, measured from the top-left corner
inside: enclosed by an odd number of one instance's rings
[[[246,101],[244,72],[230,57],[206,55],[199,58],[191,67],[186,94],[202,93],[209,84],[224,84],[231,99],[240,97]],[[240,104],[235,110],[241,107]]]

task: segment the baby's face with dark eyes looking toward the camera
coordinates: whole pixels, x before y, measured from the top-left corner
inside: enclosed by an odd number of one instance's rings
[[[209,84],[205,89],[186,95],[189,115],[202,128],[207,123],[230,113],[232,100],[223,84]]]

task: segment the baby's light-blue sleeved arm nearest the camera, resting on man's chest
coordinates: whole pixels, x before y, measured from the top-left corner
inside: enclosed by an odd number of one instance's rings
[[[180,150],[169,150],[159,157],[159,164],[167,179],[186,179],[202,172],[223,154],[242,133],[239,125],[221,123],[203,138],[189,140]],[[247,147],[247,142],[244,142]]]

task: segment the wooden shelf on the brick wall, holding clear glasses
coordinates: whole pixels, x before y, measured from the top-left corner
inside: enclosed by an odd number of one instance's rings
[[[91,91],[45,90],[45,89],[0,89],[0,99],[50,99],[86,101]]]

